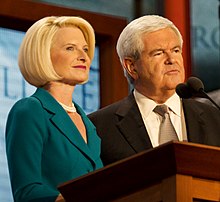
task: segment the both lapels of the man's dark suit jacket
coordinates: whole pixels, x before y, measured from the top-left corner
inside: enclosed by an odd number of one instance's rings
[[[194,100],[183,100],[187,137],[189,142],[204,144],[207,139],[204,110]],[[136,152],[152,147],[133,94],[116,111],[117,127]]]

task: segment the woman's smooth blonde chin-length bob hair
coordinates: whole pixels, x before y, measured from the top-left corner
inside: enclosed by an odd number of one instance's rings
[[[88,43],[88,56],[92,60],[95,50],[95,34],[92,26],[81,17],[45,17],[35,22],[26,32],[18,54],[18,65],[25,80],[42,87],[50,81],[62,78],[55,72],[50,55],[53,37],[62,27],[79,28]]]

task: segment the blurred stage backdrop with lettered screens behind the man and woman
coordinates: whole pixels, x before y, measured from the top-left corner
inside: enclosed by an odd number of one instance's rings
[[[131,20],[158,14],[172,20],[184,38],[186,77],[197,76],[220,103],[219,0],[4,0],[0,7],[0,201],[13,201],[5,155],[5,123],[12,105],[31,95],[18,69],[17,54],[25,31],[47,15],[80,15],[96,31],[90,80],[78,86],[73,100],[91,113],[129,93],[115,44]],[[19,152],[19,151],[18,151]]]

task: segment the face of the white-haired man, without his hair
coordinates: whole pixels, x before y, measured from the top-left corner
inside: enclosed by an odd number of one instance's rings
[[[135,88],[140,93],[152,95],[173,94],[184,82],[185,72],[181,42],[171,28],[143,35],[144,49],[134,62]]]

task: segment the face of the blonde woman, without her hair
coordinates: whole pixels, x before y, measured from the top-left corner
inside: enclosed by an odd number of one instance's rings
[[[88,80],[91,59],[88,44],[77,27],[63,27],[55,34],[51,47],[51,61],[62,82],[70,85]]]

